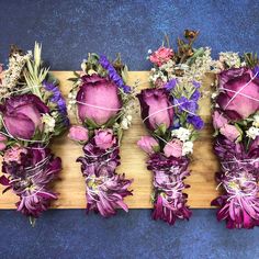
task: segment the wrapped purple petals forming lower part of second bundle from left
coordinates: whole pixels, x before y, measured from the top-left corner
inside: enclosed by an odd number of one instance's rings
[[[104,217],[115,215],[120,207],[127,212],[123,200],[132,195],[132,191],[127,190],[132,180],[115,172],[120,165],[117,143],[109,149],[101,149],[92,139],[83,146],[83,153],[85,156],[77,161],[81,162],[87,183],[87,212],[99,212]]]

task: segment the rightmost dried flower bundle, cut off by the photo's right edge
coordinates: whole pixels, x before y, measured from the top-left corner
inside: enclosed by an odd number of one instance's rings
[[[221,53],[213,93],[216,173],[224,193],[212,202],[227,228],[259,226],[259,60]]]

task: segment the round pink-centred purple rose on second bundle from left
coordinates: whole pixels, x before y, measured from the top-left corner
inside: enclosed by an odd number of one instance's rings
[[[95,74],[82,77],[77,102],[80,120],[90,119],[99,125],[105,124],[122,108],[117,86]]]

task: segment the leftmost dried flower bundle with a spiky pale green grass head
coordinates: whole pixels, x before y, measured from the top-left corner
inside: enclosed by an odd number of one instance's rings
[[[61,160],[47,146],[69,125],[58,81],[43,66],[41,50],[37,43],[34,55],[12,46],[8,69],[0,70],[0,183],[19,196],[18,211],[31,223],[57,199],[50,183]]]

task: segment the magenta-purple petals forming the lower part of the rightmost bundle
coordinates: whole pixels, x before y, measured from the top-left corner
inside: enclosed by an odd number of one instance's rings
[[[217,137],[215,153],[222,171],[216,179],[224,194],[212,202],[218,206],[218,221],[226,221],[227,228],[259,226],[259,145],[254,140],[248,150],[241,143]]]

